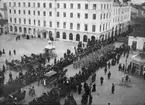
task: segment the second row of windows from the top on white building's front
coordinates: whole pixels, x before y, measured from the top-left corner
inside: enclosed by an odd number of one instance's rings
[[[9,10],[9,12],[10,12],[10,14],[12,13],[11,9]],[[16,14],[16,10],[14,10],[14,14]],[[18,10],[18,14],[21,14],[21,10]],[[23,10],[23,14],[26,14],[25,10]],[[28,15],[32,15],[32,14],[35,16],[36,15],[36,11],[32,12],[32,11],[28,10]],[[41,16],[41,12],[37,11],[37,15]],[[62,15],[63,15],[63,17],[67,17],[66,12],[63,12]],[[43,12],[43,16],[46,16],[46,12],[45,11]],[[52,12],[49,12],[49,16],[52,16]],[[60,17],[60,12],[57,12],[57,17]],[[74,13],[70,13],[69,17],[70,18],[74,18]],[[77,13],[77,18],[81,18],[80,13]],[[88,13],[85,13],[84,14],[84,19],[88,19],[88,18],[89,18]],[[96,14],[92,15],[92,19],[96,19]]]

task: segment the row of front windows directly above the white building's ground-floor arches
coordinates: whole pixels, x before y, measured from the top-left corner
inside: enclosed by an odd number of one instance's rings
[[[14,18],[14,23],[22,24],[22,21],[24,24],[26,24],[26,19]],[[28,21],[29,25],[32,25],[32,22],[33,22],[33,25],[36,25],[36,20],[28,19],[27,21]],[[12,18],[10,18],[10,23],[13,23]],[[66,28],[67,24],[68,23],[63,22],[64,29]],[[37,20],[37,25],[40,26],[40,20]],[[46,21],[43,21],[43,26],[46,27]],[[77,26],[77,30],[80,30],[81,25],[79,23],[77,23],[76,26]],[[52,21],[49,22],[49,27],[52,27]],[[70,23],[69,27],[70,27],[70,29],[74,29],[74,24]],[[60,28],[60,22],[57,22],[57,28]],[[84,24],[84,31],[88,31],[88,24]],[[92,32],[96,32],[96,25],[92,25]]]

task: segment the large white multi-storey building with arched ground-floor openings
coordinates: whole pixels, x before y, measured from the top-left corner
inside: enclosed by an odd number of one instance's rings
[[[9,32],[87,42],[108,38],[130,21],[130,12],[129,4],[113,0],[8,0]]]

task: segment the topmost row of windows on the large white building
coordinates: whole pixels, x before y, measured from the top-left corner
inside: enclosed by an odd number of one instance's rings
[[[76,4],[76,3],[75,3]],[[69,5],[66,4],[66,3],[57,3],[57,8],[70,8],[70,9],[74,9],[75,8],[75,4],[74,3],[70,3]],[[26,3],[26,2],[9,2],[9,6],[12,7],[43,7],[43,8],[46,8],[46,3]],[[49,8],[52,8],[52,3],[49,3]],[[76,4],[76,8],[77,9],[83,9],[82,8],[82,4],[78,3]],[[110,9],[111,8],[111,4],[101,4],[101,9]],[[96,10],[97,9],[97,4],[92,4],[91,8],[89,8],[89,5],[88,4],[84,4],[84,9],[93,9],[93,10]]]

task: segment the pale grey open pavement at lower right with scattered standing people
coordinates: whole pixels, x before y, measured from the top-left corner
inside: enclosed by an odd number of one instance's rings
[[[130,55],[131,57],[132,55]],[[128,60],[129,64],[130,58]],[[121,63],[125,63],[125,58],[122,57]],[[97,92],[93,92],[92,105],[143,105],[145,103],[145,81],[143,77],[131,77],[131,82],[127,85],[121,83],[122,72],[118,71],[118,65],[110,68],[111,79],[107,79],[107,75],[104,74],[104,68],[99,69],[96,72],[96,88]],[[71,73],[71,72],[70,72]],[[100,77],[104,77],[103,86],[100,85]],[[111,94],[112,83],[115,84],[115,94]],[[81,104],[82,94],[74,93],[74,98],[78,105]],[[61,104],[64,103],[64,99],[61,100]]]

